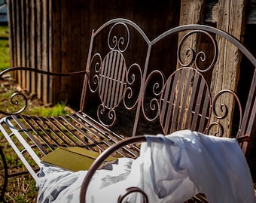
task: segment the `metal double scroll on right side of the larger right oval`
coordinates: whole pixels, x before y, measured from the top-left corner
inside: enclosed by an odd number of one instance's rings
[[[236,95],[236,92],[233,92],[230,89],[223,89],[220,92],[218,92],[212,101],[212,115],[217,120],[224,120],[227,118],[228,114],[230,113],[231,109],[229,109],[226,104],[223,104],[222,102],[218,102],[218,101],[221,101],[221,96],[224,96],[224,94],[233,95],[234,102],[236,102],[236,105],[238,106],[238,110],[239,110],[238,129],[240,129],[240,126],[242,123],[242,105],[239,101],[238,96]],[[221,123],[217,122],[217,121],[209,124],[209,127],[208,127],[206,133],[209,133],[209,131],[213,128],[213,126],[217,127],[217,129],[219,129],[219,131],[213,132],[213,134],[222,137],[224,135],[224,126],[222,126]],[[238,135],[238,133],[239,133],[239,131],[237,132],[237,135]]]

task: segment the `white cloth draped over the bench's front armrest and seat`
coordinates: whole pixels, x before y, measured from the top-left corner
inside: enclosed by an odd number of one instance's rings
[[[56,171],[57,170],[57,171]],[[41,168],[38,202],[79,202],[87,171]],[[130,186],[139,186],[149,202],[184,202],[198,192],[212,203],[254,202],[251,174],[236,139],[189,130],[147,136],[138,159],[119,159],[113,170],[99,170],[87,202],[117,202]],[[127,202],[142,202],[138,193]]]

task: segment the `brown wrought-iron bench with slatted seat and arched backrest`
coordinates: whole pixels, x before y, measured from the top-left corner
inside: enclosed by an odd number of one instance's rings
[[[227,41],[227,47],[220,49],[220,40]],[[227,57],[238,64],[242,59],[241,75],[248,75],[245,84],[240,79],[239,86],[232,86],[216,77],[230,72]],[[0,120],[0,130],[35,180],[40,158],[57,147],[80,146],[102,153],[128,137],[168,135],[180,129],[238,138],[248,156],[255,133],[255,67],[254,56],[219,29],[178,26],[151,40],[136,23],[114,19],[93,30],[85,71],[50,73],[15,67],[0,74],[22,70],[53,78],[80,74],[84,86],[78,112],[61,117],[24,116],[26,98],[21,96],[24,106],[14,113],[2,112],[8,116]],[[117,153],[136,158],[139,147],[127,144]],[[2,150],[1,156],[3,198],[11,174]]]

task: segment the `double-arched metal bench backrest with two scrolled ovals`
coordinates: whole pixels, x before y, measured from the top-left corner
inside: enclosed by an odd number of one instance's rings
[[[241,82],[235,77],[230,77],[235,86],[225,87],[223,79],[223,86],[216,88],[215,74],[221,71],[216,67],[230,68],[219,60],[232,53],[218,47],[220,38],[233,44],[236,51],[230,57],[238,64],[240,59],[251,63],[240,70],[248,74],[245,89],[239,89]],[[256,59],[236,38],[213,27],[179,26],[151,41],[130,20],[110,20],[92,33],[81,111],[86,104],[87,110],[96,105],[99,123],[117,130],[130,126],[131,132],[123,132],[127,135],[166,135],[178,129],[225,137],[251,135],[255,67]]]

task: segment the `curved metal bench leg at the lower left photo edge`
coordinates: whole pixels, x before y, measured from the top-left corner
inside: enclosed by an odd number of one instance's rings
[[[2,151],[2,147],[0,147],[0,156],[1,156],[1,160],[0,160],[0,167],[1,167],[1,179],[4,180],[4,183],[1,183],[1,190],[0,190],[0,201],[4,201],[5,198],[5,191],[7,188],[7,183],[8,183],[8,167],[7,167],[7,163],[5,160],[5,155]],[[2,163],[1,163],[2,162]],[[4,168],[2,168],[4,166]]]

